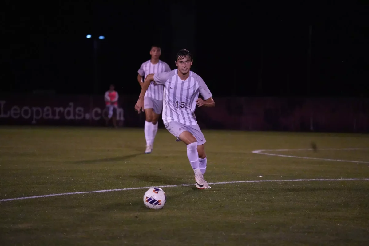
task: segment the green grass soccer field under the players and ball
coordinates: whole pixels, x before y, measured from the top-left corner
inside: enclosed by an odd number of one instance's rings
[[[368,245],[368,135],[204,131],[208,182],[197,190],[183,143],[161,129],[0,128],[0,245]],[[318,150],[308,149],[311,142]],[[309,157],[270,156],[262,153]],[[337,159],[361,161],[345,162]],[[262,177],[260,177],[262,176]],[[341,179],[331,181],[274,181]],[[190,186],[180,186],[191,184]]]

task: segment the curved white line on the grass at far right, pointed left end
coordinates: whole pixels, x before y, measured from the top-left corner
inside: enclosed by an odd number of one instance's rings
[[[259,150],[252,151],[252,153],[261,154],[261,155],[269,155],[269,156],[309,159],[309,160],[330,160],[330,161],[335,161],[335,162],[369,163],[369,162],[363,162],[363,161],[359,161],[359,160],[340,160],[340,159],[329,159],[329,158],[292,156],[292,155],[280,155],[280,154],[265,153],[265,151],[302,151],[302,150],[313,150],[313,149],[259,149]],[[343,148],[343,149],[329,148],[329,149],[319,149],[319,150],[369,150],[369,149],[368,148]]]

